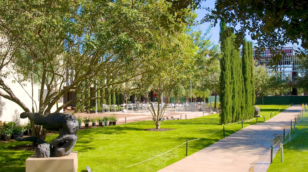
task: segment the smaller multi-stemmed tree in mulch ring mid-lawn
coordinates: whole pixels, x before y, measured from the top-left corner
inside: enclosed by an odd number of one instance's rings
[[[153,51],[156,53],[151,56],[153,60],[148,66],[155,71],[142,77],[146,80],[139,81],[146,83],[144,95],[152,90],[158,97],[157,104],[155,104],[148,99],[148,96],[145,96],[150,104],[149,109],[156,129],[160,129],[160,119],[164,115],[173,88],[191,80],[195,71],[195,55],[197,54],[197,47],[193,44],[190,35],[185,33],[184,26],[182,31],[177,31],[172,37],[161,34],[158,39],[160,43],[154,45],[156,50]],[[164,97],[166,97],[165,100],[163,100]]]

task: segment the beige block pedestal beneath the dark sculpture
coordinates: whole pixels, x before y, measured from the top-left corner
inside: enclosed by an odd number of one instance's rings
[[[36,153],[26,159],[26,172],[76,172],[78,151],[64,157],[38,158]]]

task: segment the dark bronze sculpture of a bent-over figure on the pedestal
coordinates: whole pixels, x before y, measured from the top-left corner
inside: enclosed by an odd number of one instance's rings
[[[49,113],[40,115],[39,113],[23,112],[21,118],[29,118],[37,125],[43,125],[43,128],[51,131],[59,131],[59,136],[46,143],[39,137],[30,136],[26,138],[15,137],[17,141],[32,141],[39,144],[36,148],[38,157],[62,157],[69,155],[77,141],[77,131],[79,123],[76,117],[70,113]]]

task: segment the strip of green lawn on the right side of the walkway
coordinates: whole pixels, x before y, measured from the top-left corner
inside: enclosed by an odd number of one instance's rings
[[[273,163],[270,165],[268,172],[276,171],[308,171],[308,112],[304,118],[296,125],[295,132],[291,130],[291,142],[283,145],[283,162],[280,160],[280,150],[276,154]],[[289,135],[286,137],[289,141]]]

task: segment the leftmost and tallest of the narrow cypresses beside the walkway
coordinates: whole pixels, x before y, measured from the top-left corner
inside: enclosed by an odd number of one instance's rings
[[[232,121],[232,83],[231,83],[231,51],[234,49],[232,38],[226,36],[226,24],[220,23],[220,42],[221,52],[223,57],[220,60],[221,75],[220,75],[220,102],[221,113],[220,123],[227,124]]]

